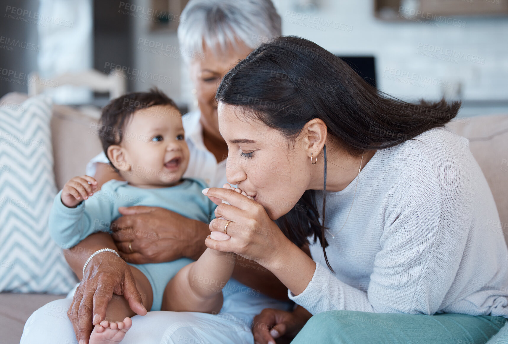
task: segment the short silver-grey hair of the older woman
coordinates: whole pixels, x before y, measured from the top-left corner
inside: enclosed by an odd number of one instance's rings
[[[282,34],[280,16],[271,0],[190,0],[181,18],[178,42],[187,60],[203,56],[204,44],[214,53],[235,40],[254,49]]]

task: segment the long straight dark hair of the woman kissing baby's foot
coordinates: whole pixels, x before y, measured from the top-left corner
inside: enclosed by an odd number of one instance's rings
[[[277,37],[251,52],[225,75],[216,99],[241,106],[245,116],[290,140],[308,121],[319,118],[334,142],[356,157],[442,127],[457,116],[460,107],[460,102],[444,100],[408,103],[379,92],[340,58],[294,36]],[[324,153],[326,157],[326,146]],[[299,247],[312,234],[314,242],[319,238],[333,271],[325,250],[325,194],[321,225],[313,190],[306,190],[299,204],[277,224]]]

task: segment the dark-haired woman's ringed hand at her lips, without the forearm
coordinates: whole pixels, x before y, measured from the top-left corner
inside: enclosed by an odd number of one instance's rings
[[[210,222],[210,231],[224,233],[227,224],[227,234],[231,236],[231,239],[223,241],[208,237],[205,244],[209,248],[234,252],[266,267],[281,253],[284,244],[291,244],[255,200],[235,192],[233,188],[211,187],[204,189],[203,194],[218,204],[215,208],[217,218]],[[232,222],[228,224],[228,221]]]

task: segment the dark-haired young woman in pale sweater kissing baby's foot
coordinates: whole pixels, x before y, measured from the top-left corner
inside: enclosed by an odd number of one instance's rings
[[[208,247],[259,262],[293,313],[265,310],[255,340],[485,342],[508,317],[508,250],[460,103],[407,103],[330,52],[278,37],[224,77],[216,99],[231,189]],[[221,201],[228,203],[221,203]],[[226,226],[226,227],[225,227]],[[312,258],[299,247],[309,241]]]

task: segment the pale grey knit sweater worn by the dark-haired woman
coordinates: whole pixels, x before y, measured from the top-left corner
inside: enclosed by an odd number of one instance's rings
[[[378,150],[357,179],[326,194],[326,266],[289,296],[312,314],[461,313],[508,318],[508,250],[469,141],[444,129]],[[317,209],[322,207],[317,192]],[[332,238],[332,235],[335,239]],[[312,241],[311,241],[312,243]]]

